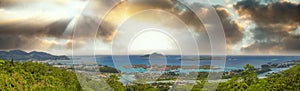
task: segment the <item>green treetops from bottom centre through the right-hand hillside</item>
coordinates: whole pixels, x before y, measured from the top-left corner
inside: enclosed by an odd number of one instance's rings
[[[154,84],[135,84],[122,86],[118,82],[116,76],[111,76],[108,79],[114,79],[109,84],[114,85],[116,91],[167,91],[172,84],[154,83]],[[206,83],[206,84],[205,84]],[[198,82],[192,91],[212,90],[210,88],[203,89],[204,85],[211,87],[215,83],[207,83],[205,80]],[[145,89],[147,88],[147,89]],[[190,85],[182,85],[175,87],[177,90],[186,90],[191,88]],[[269,75],[267,78],[258,79],[257,72],[253,66],[247,64],[244,66],[244,71],[240,75],[236,75],[227,82],[220,83],[217,87],[218,91],[299,91],[300,90],[300,64],[288,69],[282,73]]]

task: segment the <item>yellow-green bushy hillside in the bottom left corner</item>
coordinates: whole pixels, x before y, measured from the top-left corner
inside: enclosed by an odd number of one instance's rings
[[[80,91],[81,87],[73,71],[33,62],[0,60],[0,90]]]

